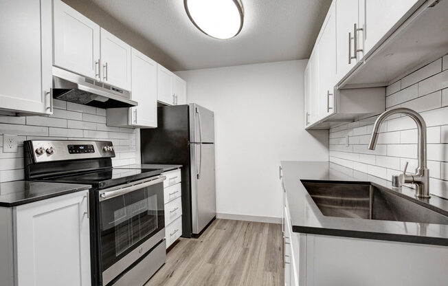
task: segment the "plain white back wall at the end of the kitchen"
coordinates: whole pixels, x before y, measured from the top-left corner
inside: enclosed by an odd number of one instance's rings
[[[188,102],[215,112],[221,217],[281,217],[280,160],[328,160],[328,131],[304,130],[306,62],[177,72],[187,81]]]

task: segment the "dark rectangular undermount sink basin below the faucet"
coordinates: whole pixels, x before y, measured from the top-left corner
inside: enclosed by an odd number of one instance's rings
[[[412,199],[371,184],[302,181],[327,217],[448,224],[448,217]]]

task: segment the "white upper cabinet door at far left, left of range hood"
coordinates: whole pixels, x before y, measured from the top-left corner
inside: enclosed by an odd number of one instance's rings
[[[0,109],[52,113],[52,1],[0,8]]]

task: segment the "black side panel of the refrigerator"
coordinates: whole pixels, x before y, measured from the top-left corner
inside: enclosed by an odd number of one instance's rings
[[[157,107],[157,128],[140,129],[142,164],[181,164],[182,236],[192,236],[188,105]]]

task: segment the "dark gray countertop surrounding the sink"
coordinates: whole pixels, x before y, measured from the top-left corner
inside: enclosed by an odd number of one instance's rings
[[[403,186],[401,189],[392,189],[390,181],[333,163],[283,161],[281,164],[293,232],[448,245],[448,225],[326,217],[317,208],[300,180],[371,183],[399,192],[398,195],[409,197],[416,203],[425,203],[428,208],[448,216],[446,199],[436,196],[432,196],[429,202],[416,199],[411,188]]]

